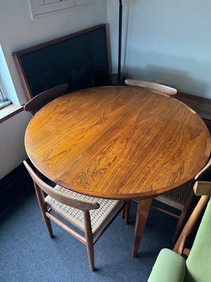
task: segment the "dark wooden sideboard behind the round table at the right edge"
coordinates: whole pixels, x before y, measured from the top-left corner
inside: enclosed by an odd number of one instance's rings
[[[211,99],[183,92],[177,92],[177,94],[172,97],[192,108],[203,119],[208,130],[211,132]]]

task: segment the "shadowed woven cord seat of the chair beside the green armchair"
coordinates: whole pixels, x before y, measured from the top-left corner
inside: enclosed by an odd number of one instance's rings
[[[159,195],[155,199],[171,207],[177,208],[179,210],[183,210],[190,189],[193,186],[193,182],[194,179],[186,182],[185,184],[177,187],[176,189],[173,189],[169,192]]]

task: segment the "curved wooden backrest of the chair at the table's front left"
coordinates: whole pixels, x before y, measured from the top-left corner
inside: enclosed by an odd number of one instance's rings
[[[26,161],[23,161],[23,163],[24,163],[27,171],[29,172],[31,178],[33,179],[34,184],[38,185],[38,189],[40,188],[46,194],[51,196],[53,199],[65,204],[67,206],[78,208],[78,209],[81,209],[83,211],[88,211],[88,210],[91,210],[91,209],[99,208],[99,204],[94,202],[94,201],[82,199],[82,198],[79,198],[79,197],[74,197],[74,196],[71,196],[71,195],[68,195],[68,194],[65,194],[65,193],[62,193],[62,192],[55,190],[53,187],[51,187],[50,185],[45,183],[40,177],[38,177],[38,175],[32,170],[32,168],[28,165],[28,163]]]

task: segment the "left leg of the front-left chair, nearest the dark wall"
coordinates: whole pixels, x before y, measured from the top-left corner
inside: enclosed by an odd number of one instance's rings
[[[38,202],[39,202],[42,214],[43,214],[43,219],[44,219],[44,222],[46,224],[48,234],[51,238],[54,238],[50,218],[48,218],[46,216],[47,206],[46,206],[45,198],[43,196],[43,191],[40,189],[40,187],[37,185],[36,182],[34,182],[34,188],[35,188],[35,191],[36,191],[36,194],[37,194],[37,197],[38,197]]]

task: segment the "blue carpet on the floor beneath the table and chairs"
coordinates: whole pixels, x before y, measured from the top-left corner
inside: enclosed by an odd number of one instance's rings
[[[151,208],[136,258],[131,257],[137,203],[129,225],[118,216],[94,246],[90,271],[86,246],[52,223],[46,230],[35,194],[0,223],[1,281],[147,281],[160,249],[172,249],[177,218]]]

